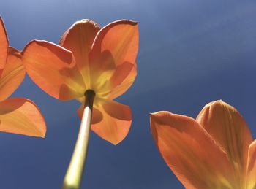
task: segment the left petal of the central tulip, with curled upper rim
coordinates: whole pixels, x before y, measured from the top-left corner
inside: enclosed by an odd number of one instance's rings
[[[23,50],[23,63],[31,79],[60,100],[83,96],[85,85],[72,53],[59,45],[32,41]]]

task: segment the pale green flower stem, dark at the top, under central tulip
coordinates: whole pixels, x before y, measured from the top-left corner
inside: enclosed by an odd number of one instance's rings
[[[80,182],[82,179],[83,168],[86,161],[89,136],[91,130],[91,115],[94,104],[95,93],[93,90],[86,90],[85,107],[83,111],[83,117],[81,120],[78,139],[75,144],[75,150],[73,152],[69,168],[67,169],[66,176],[62,189],[78,189],[80,188]]]

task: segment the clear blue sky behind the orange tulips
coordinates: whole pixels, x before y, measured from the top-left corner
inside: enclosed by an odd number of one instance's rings
[[[91,134],[82,188],[183,188],[157,151],[149,112],[196,117],[222,99],[244,116],[256,138],[256,2],[202,0],[3,0],[10,45],[31,39],[59,42],[77,20],[100,26],[138,21],[138,77],[117,101],[132,109],[132,127],[113,146]],[[45,139],[0,133],[0,182],[4,189],[56,189],[78,134],[77,101],[58,101],[26,77],[12,96],[36,102],[48,125]]]

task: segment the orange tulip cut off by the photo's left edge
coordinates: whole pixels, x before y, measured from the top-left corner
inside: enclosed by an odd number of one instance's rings
[[[34,102],[24,98],[7,99],[26,74],[20,58],[18,50],[8,47],[0,17],[0,131],[45,137],[45,120]]]

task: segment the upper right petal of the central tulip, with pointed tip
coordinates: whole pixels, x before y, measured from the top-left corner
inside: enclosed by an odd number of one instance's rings
[[[122,65],[134,65],[129,66],[131,70],[128,74],[127,72],[120,72],[119,76],[124,74],[126,77],[118,77],[118,85],[113,85],[116,84],[115,82],[112,85],[110,83],[106,91],[100,90],[100,93],[109,93],[108,90],[111,89],[108,99],[114,99],[124,93],[135,80],[138,39],[138,25],[130,20],[110,23],[98,32],[90,53],[92,83],[112,82],[113,80],[110,78],[116,75],[116,70],[121,71],[120,68],[124,67]],[[108,77],[99,78],[102,72],[107,72]],[[97,85],[92,88],[102,88],[102,86],[104,85]]]

